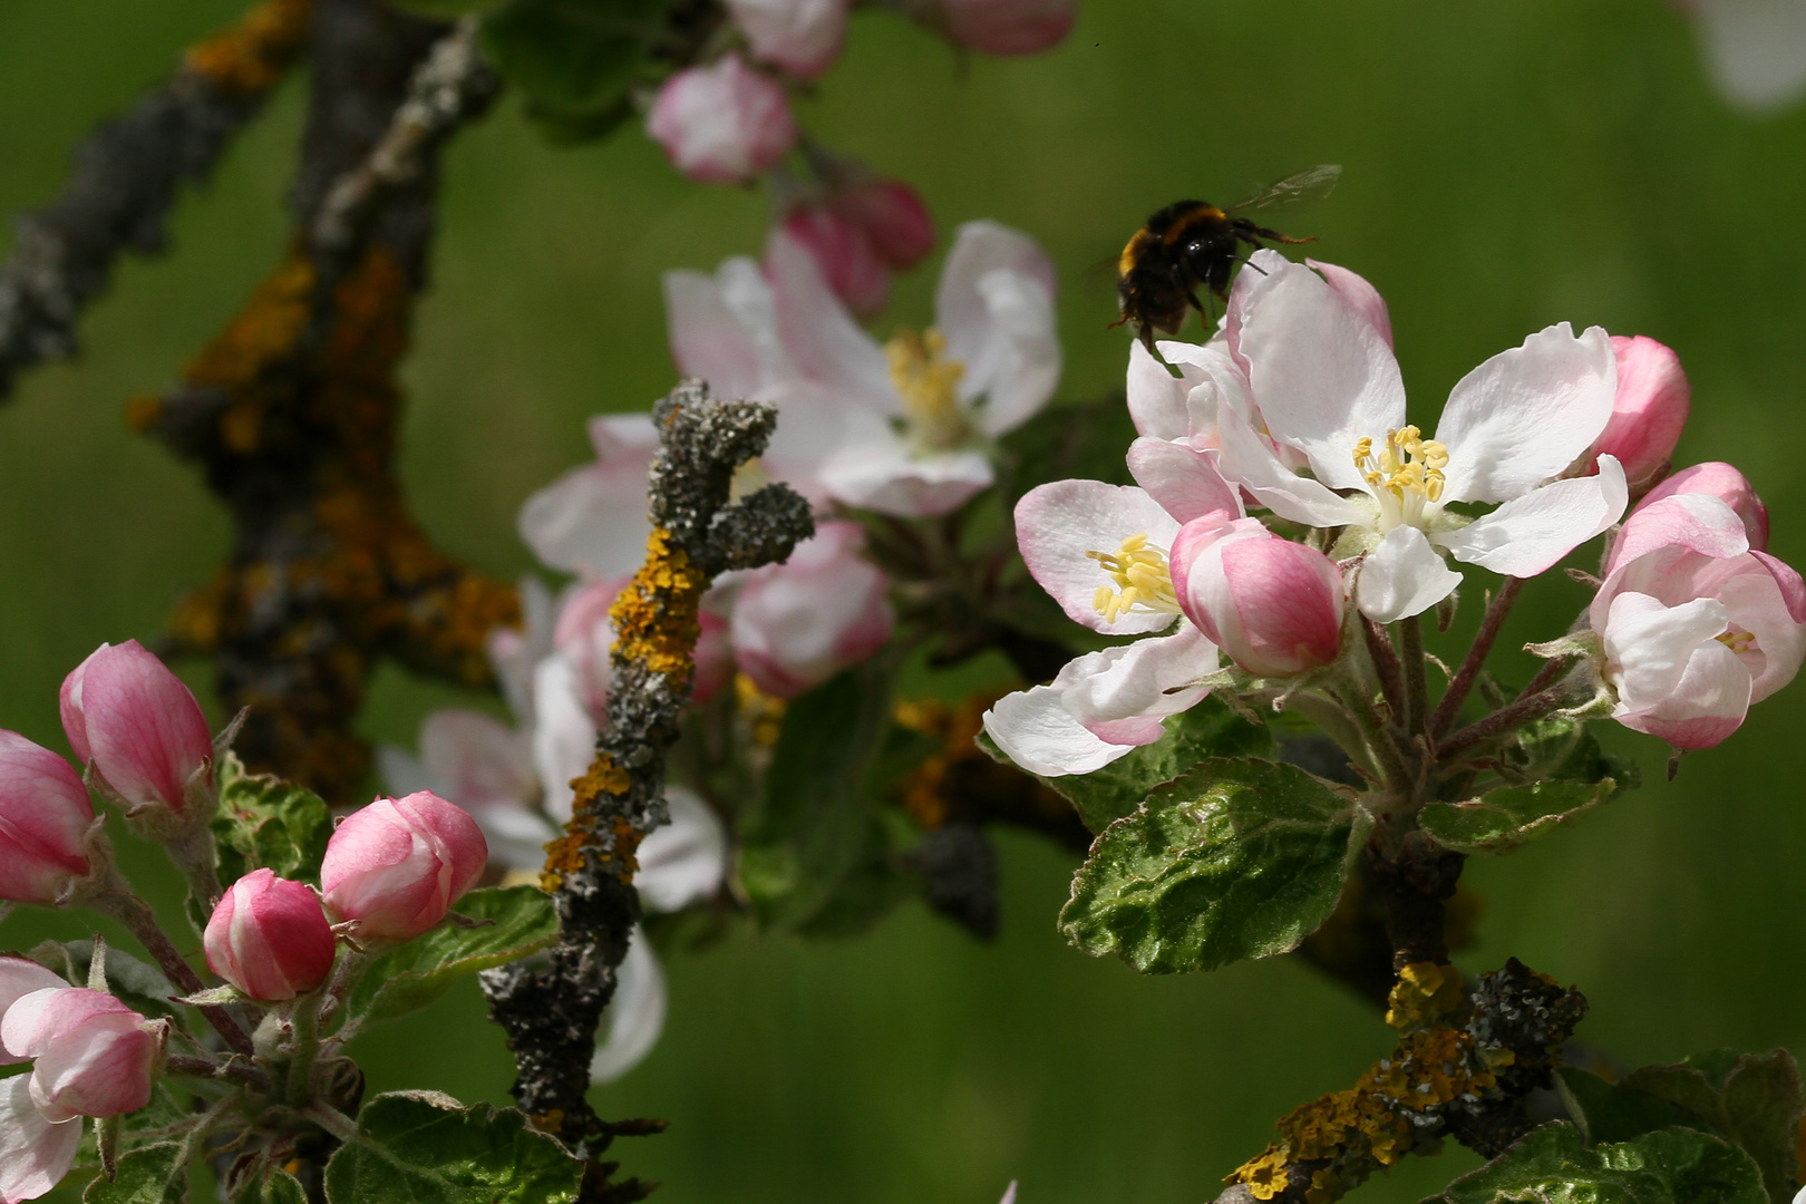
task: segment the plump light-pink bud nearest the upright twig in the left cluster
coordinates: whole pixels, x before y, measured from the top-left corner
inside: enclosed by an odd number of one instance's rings
[[[489,861],[482,829],[432,791],[379,798],[327,843],[320,884],[361,937],[417,937],[444,919]]]

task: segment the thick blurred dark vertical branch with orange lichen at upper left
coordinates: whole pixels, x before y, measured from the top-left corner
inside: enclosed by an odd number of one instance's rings
[[[195,460],[233,514],[228,563],[177,610],[168,652],[215,659],[238,751],[330,801],[363,785],[354,733],[383,659],[489,684],[484,639],[511,587],[441,552],[396,478],[437,150],[495,76],[470,29],[377,0],[312,0],[312,94],[285,262],[134,426]]]

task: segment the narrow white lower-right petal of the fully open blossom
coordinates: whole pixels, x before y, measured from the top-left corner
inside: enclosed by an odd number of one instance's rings
[[[1470,565],[1533,578],[1618,522],[1625,502],[1624,468],[1602,455],[1597,477],[1551,480],[1436,542]]]

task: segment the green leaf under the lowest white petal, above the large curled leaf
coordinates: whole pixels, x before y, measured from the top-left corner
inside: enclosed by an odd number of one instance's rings
[[[979,746],[1010,764],[990,736],[981,735]],[[1073,801],[1087,829],[1102,832],[1140,807],[1154,787],[1172,782],[1206,756],[1271,756],[1273,747],[1271,731],[1241,718],[1221,699],[1206,697],[1192,709],[1167,718],[1167,735],[1154,744],[1145,744],[1096,773],[1040,780]]]

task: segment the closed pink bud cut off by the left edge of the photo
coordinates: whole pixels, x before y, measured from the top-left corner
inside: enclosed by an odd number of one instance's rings
[[[87,877],[90,823],[88,789],[69,762],[0,731],[0,899],[56,903],[70,879]]]

